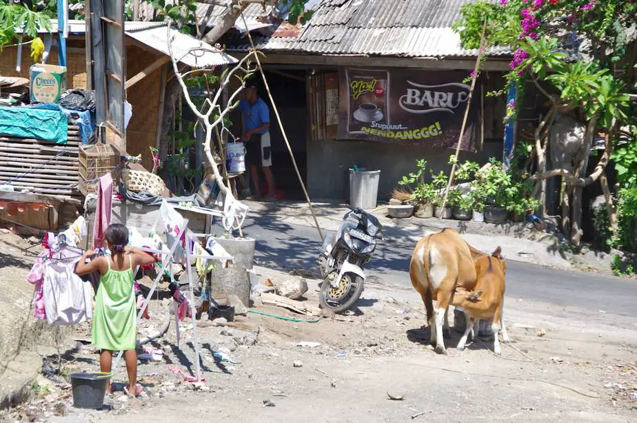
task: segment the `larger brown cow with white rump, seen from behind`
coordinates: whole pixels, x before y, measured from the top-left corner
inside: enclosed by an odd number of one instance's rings
[[[429,342],[436,344],[437,353],[447,353],[443,326],[448,329],[447,311],[454,291],[456,287],[473,291],[476,283],[474,261],[485,256],[487,254],[474,249],[449,227],[425,236],[416,244],[410,262],[410,277],[425,303],[431,330]]]

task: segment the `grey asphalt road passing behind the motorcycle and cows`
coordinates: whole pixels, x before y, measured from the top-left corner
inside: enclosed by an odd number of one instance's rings
[[[288,269],[312,269],[321,246],[314,227],[281,223],[274,216],[246,218],[244,235],[257,241],[259,265]],[[385,233],[387,240],[367,265],[372,282],[410,287],[409,260],[414,243],[400,232]],[[589,311],[603,310],[637,317],[637,283],[631,280],[549,269],[509,260],[507,295]]]

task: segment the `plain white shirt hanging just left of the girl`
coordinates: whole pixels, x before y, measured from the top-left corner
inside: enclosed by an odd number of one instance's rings
[[[75,274],[77,251],[61,249],[45,262],[43,298],[49,324],[78,324],[92,318],[92,288]]]

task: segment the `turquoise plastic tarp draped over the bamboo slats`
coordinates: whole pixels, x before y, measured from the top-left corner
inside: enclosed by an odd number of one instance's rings
[[[0,134],[65,144],[68,137],[67,116],[59,105],[43,106],[0,106]]]

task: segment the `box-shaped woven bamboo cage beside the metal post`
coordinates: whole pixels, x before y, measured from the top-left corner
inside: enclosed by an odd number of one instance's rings
[[[101,176],[112,172],[117,185],[121,171],[114,169],[121,162],[117,151],[108,144],[81,145],[79,147],[79,190],[83,195],[97,192],[97,183]],[[113,170],[114,169],[114,170]]]

